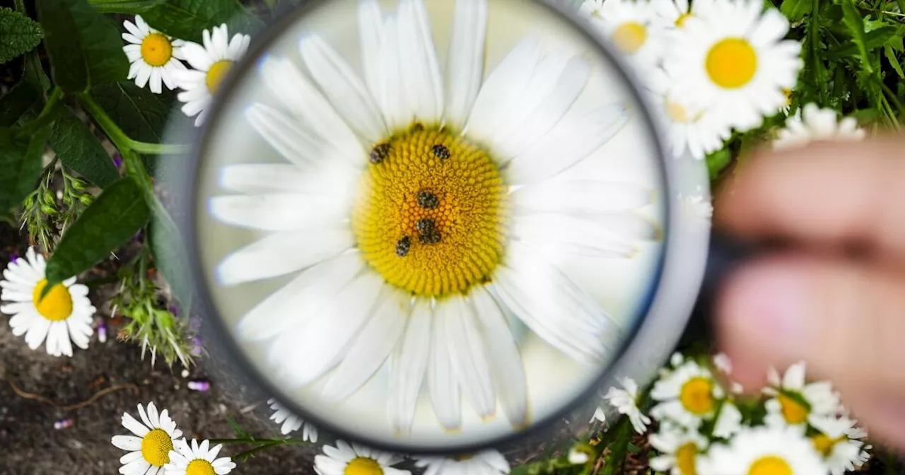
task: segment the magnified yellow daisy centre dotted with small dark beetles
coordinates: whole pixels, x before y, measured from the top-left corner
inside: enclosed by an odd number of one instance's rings
[[[479,147],[443,128],[395,134],[362,174],[352,230],[365,260],[415,295],[463,292],[503,252],[506,186]]]

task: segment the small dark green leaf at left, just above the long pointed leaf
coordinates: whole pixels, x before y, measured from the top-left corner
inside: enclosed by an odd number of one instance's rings
[[[119,180],[119,171],[100,145],[100,140],[70,109],[64,109],[56,119],[51,134],[51,147],[63,165],[69,166],[94,185],[106,188]]]

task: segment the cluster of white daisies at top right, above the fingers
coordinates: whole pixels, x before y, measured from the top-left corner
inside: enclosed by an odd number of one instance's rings
[[[703,158],[790,109],[801,43],[763,0],[586,0],[581,13],[643,78],[675,157]],[[802,114],[802,110],[804,114]],[[808,105],[776,145],[862,138],[854,119]]]

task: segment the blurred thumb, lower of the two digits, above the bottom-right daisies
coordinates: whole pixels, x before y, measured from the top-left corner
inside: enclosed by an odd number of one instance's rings
[[[862,423],[905,447],[905,276],[862,262],[789,254],[730,277],[717,306],[719,345],[738,382],[807,362]],[[884,437],[885,436],[885,437]]]

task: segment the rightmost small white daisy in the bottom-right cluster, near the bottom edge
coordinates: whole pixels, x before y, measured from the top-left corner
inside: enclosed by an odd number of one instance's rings
[[[854,470],[864,463],[864,442],[853,437],[862,433],[854,424],[855,421],[847,416],[814,418],[812,425],[820,432],[812,435],[811,441],[817,452],[824,456],[832,475],[842,475],[846,470]]]

